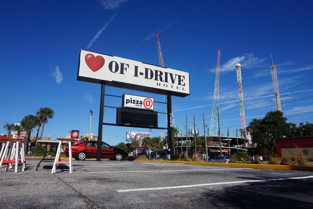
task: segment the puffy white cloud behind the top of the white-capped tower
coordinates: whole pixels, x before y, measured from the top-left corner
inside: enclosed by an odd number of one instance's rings
[[[250,69],[252,67],[261,67],[264,65],[264,61],[268,58],[255,57],[253,53],[247,53],[243,56],[236,56],[229,59],[227,62],[220,66],[220,72],[235,71],[235,65],[237,63],[241,64],[244,69]],[[216,68],[210,69],[211,72],[216,72]]]

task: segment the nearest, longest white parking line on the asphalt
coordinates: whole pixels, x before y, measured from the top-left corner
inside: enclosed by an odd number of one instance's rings
[[[141,189],[129,189],[129,190],[117,190],[118,192],[129,192],[129,191],[146,191],[146,190],[166,190],[166,189],[177,189],[197,186],[210,186],[210,185],[222,185],[222,184],[242,184],[251,182],[266,182],[266,181],[282,181],[290,179],[310,179],[313,176],[302,176],[302,177],[289,177],[289,178],[278,178],[278,179],[262,179],[262,180],[249,180],[249,181],[230,181],[230,182],[218,182],[209,184],[194,184],[194,185],[183,185],[183,186],[167,186],[167,187],[155,187],[155,188],[141,188]]]

